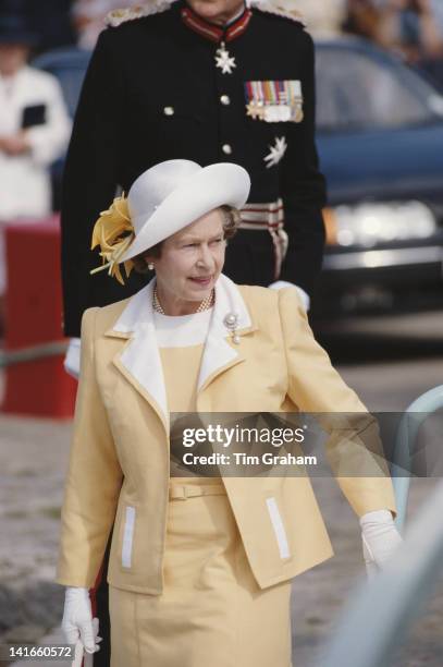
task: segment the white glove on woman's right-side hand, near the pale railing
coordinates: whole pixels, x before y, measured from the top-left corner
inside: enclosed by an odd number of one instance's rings
[[[361,517],[360,526],[366,570],[371,579],[403,541],[389,510],[368,512]]]

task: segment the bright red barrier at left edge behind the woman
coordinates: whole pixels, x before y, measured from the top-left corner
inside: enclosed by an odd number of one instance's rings
[[[8,293],[5,352],[66,342],[62,333],[60,228],[44,222],[7,226]],[[29,350],[33,354],[33,350]],[[2,410],[66,419],[73,415],[77,383],[63,368],[63,354],[7,365]]]

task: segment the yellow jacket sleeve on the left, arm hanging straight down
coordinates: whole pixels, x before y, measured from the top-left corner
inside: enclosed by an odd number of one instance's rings
[[[114,522],[123,473],[96,379],[98,308],[82,320],[82,366],[62,507],[57,582],[91,587]]]

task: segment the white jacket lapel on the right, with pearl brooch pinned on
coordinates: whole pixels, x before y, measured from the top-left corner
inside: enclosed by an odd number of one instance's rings
[[[224,318],[229,314],[237,317],[238,336],[254,330],[249,312],[237,286],[222,274],[216,284],[216,303],[201,359],[197,391],[201,391],[222,369],[243,361],[237,348],[232,347],[226,340],[231,337],[224,324]]]

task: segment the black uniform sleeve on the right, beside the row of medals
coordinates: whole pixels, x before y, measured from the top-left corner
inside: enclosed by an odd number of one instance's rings
[[[315,51],[311,37],[300,33],[303,62],[302,94],[304,120],[287,123],[287,149],[282,160],[282,193],[288,248],[280,279],[300,287],[309,295],[321,269],[324,247],[322,208],[325,205],[325,181],[319,171],[315,143]]]

